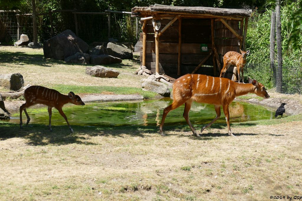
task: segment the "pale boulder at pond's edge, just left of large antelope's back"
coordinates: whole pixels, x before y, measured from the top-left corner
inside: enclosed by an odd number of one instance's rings
[[[169,97],[171,94],[167,85],[161,82],[156,82],[154,80],[142,79],[141,86],[143,91],[153,91],[164,97]]]

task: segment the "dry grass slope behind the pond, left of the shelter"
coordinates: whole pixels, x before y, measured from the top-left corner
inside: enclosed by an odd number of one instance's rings
[[[123,60],[121,64],[104,65],[120,71],[117,79],[92,77],[85,74],[84,64],[69,64],[64,61],[46,59],[43,49],[27,47],[0,46],[1,74],[21,73],[25,85],[52,87],[57,84],[82,86],[132,86],[140,88],[140,79],[134,71],[140,66],[139,55],[134,59]],[[4,91],[2,88],[0,90]]]

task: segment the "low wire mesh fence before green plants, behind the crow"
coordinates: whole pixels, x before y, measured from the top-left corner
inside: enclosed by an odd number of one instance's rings
[[[277,76],[278,66],[271,68],[269,63],[249,64],[244,68],[244,77],[259,81],[267,89],[278,85],[281,93],[302,94],[302,66],[283,66],[281,79],[277,79]]]

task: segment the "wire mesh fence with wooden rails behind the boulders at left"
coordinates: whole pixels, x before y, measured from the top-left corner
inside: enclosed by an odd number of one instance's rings
[[[72,30],[87,43],[108,41],[108,36],[117,38],[120,42],[136,42],[141,32],[141,24],[130,14],[111,13],[110,35],[108,35],[108,14],[85,12],[75,14],[72,11],[54,11],[37,14],[38,41],[55,36],[66,29]],[[14,44],[18,40],[18,20],[20,35],[26,34],[33,41],[32,15],[18,15],[16,11],[0,12],[0,42]]]

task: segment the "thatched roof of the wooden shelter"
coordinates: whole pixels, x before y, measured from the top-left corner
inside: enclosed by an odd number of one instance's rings
[[[214,15],[226,17],[250,17],[252,10],[227,9],[211,7],[182,7],[155,4],[149,7],[134,7],[131,16],[143,16],[150,14],[193,14],[193,15]]]

